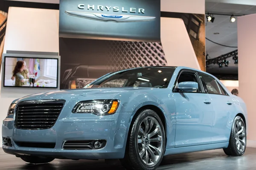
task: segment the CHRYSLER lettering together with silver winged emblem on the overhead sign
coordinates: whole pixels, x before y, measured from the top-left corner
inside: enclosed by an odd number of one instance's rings
[[[138,14],[145,14],[145,9],[143,8],[129,8],[127,10],[126,8],[122,7],[119,8],[117,6],[111,7],[111,6],[90,6],[85,4],[79,4],[79,9],[92,9],[97,11],[111,11],[118,12],[122,11],[124,13],[138,13]],[[124,22],[142,22],[142,21],[151,21],[154,20],[156,17],[145,17],[145,16],[138,16],[138,15],[112,15],[112,14],[104,14],[104,13],[93,13],[93,12],[77,12],[77,11],[65,11],[66,14],[75,16],[75,17],[82,17],[87,18],[91,20],[99,20],[99,21],[112,21],[117,23],[124,23]]]

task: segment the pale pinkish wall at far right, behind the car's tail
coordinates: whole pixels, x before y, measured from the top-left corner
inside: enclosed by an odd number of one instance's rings
[[[255,94],[256,88],[256,14],[238,17],[238,76],[239,76],[239,96],[247,105],[248,111],[248,140],[254,141],[256,147],[256,113]],[[251,146],[251,145],[247,145]]]

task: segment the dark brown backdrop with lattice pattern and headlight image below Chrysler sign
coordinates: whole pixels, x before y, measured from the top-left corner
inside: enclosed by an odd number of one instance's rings
[[[61,82],[61,89],[71,88],[72,81],[76,82],[77,88],[82,88],[93,79],[113,71],[167,65],[162,44],[157,42],[87,39],[64,39],[61,42],[61,80],[66,79]],[[77,69],[79,66],[88,69]],[[62,77],[65,71],[72,74]]]

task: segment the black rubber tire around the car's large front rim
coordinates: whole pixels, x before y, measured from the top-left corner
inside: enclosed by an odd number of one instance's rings
[[[140,124],[147,117],[150,117],[149,119],[151,119],[151,117],[153,117],[154,120],[157,120],[157,122],[161,128],[161,130],[159,130],[159,131],[162,132],[161,153],[159,154],[159,159],[158,159],[157,163],[155,163],[152,166],[148,166],[147,164],[145,164],[142,161],[142,159],[140,158],[139,149],[138,149],[139,144],[138,144],[137,134],[139,133]],[[154,126],[154,127],[156,127],[156,126]],[[153,129],[153,127],[152,127],[152,129]],[[148,138],[148,140],[150,140],[150,139]],[[149,144],[151,144],[151,143],[148,142],[148,147],[149,147]],[[124,157],[124,159],[120,159],[120,161],[126,170],[155,170],[160,165],[160,163],[163,159],[165,148],[166,148],[166,137],[165,137],[163,123],[156,112],[146,109],[146,110],[140,111],[140,113],[137,113],[134,116],[134,119],[131,122],[129,134],[128,134],[125,157]],[[145,150],[147,150],[147,149],[145,149]],[[149,154],[149,152],[148,152],[148,154]]]

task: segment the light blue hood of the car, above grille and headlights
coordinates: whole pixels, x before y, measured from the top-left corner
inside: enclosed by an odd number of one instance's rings
[[[58,91],[47,91],[39,94],[32,94],[18,99],[24,100],[43,100],[43,99],[112,99],[116,95],[130,91],[147,91],[152,88],[84,88],[84,89],[67,89]]]

